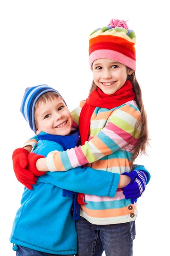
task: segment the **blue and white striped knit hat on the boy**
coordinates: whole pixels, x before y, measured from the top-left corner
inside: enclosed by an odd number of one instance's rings
[[[34,87],[28,87],[28,88],[26,88],[24,96],[23,96],[20,111],[23,114],[26,121],[28,122],[31,130],[34,131],[34,133],[36,133],[35,120],[34,120],[35,104],[36,104],[38,98],[40,98],[40,96],[43,93],[47,93],[47,92],[55,92],[59,96],[61,96],[59,94],[59,92],[57,92],[57,90],[49,87],[47,84],[41,84],[41,85],[34,86]]]

